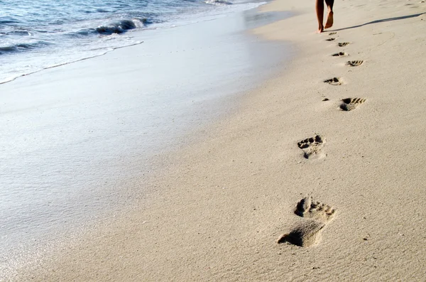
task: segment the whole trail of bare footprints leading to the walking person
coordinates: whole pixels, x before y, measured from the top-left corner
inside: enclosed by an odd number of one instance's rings
[[[336,35],[337,32],[329,33],[329,36]],[[334,41],[336,38],[328,38],[327,41]],[[349,42],[338,43],[339,47],[349,45]],[[348,53],[339,52],[334,53],[333,57],[346,57]],[[349,60],[346,65],[351,67],[358,67],[364,63],[364,60]],[[324,83],[329,85],[342,85],[341,77],[332,77],[324,80]],[[328,101],[329,99],[324,98],[322,101]],[[339,104],[339,109],[345,112],[356,109],[360,104],[366,102],[365,98],[346,98],[342,99]],[[318,159],[323,158],[325,155],[323,146],[325,139],[323,136],[315,134],[311,138],[304,139],[297,142],[297,146],[303,151],[303,157],[307,159]],[[329,205],[325,205],[322,202],[314,202],[312,197],[304,197],[302,200],[297,202],[295,208],[295,215],[302,217],[303,219],[297,224],[290,232],[281,235],[278,238],[278,244],[289,243],[296,246],[314,246],[318,244],[321,239],[322,230],[329,224],[333,219],[335,210]]]

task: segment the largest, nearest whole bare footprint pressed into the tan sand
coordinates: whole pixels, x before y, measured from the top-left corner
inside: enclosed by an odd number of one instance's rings
[[[314,246],[320,242],[322,229],[332,220],[335,212],[329,205],[312,202],[311,197],[304,197],[297,203],[295,214],[307,219],[290,233],[281,235],[278,244],[288,242],[296,246]]]

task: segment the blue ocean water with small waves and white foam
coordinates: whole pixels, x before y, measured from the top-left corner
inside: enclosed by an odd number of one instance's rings
[[[0,0],[0,84],[141,44],[133,31],[173,28],[263,4],[246,0]]]

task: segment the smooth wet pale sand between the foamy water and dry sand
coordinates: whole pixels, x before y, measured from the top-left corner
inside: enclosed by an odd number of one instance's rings
[[[133,210],[155,190],[143,178],[163,169],[159,156],[187,146],[192,131],[239,107],[238,93],[271,75],[285,60],[272,54],[286,46],[246,34],[276,16],[255,13],[143,31],[143,45],[0,86],[0,272],[37,264]],[[269,59],[251,58],[262,52]]]

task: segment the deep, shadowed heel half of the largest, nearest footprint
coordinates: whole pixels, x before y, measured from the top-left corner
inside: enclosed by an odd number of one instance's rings
[[[308,219],[298,224],[290,233],[281,235],[277,243],[281,244],[288,242],[296,246],[314,246],[320,242],[322,229],[324,227],[324,223]]]

